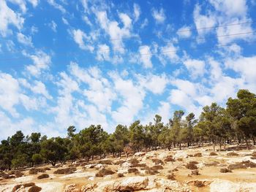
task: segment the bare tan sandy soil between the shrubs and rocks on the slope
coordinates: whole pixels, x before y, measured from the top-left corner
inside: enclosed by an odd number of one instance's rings
[[[227,153],[230,151],[219,151],[216,156],[209,155],[212,150],[211,147],[200,147],[200,148],[190,148],[184,150],[157,150],[150,151],[146,155],[137,158],[140,161],[140,164],[146,164],[147,166],[154,166],[152,159],[157,158],[162,161],[167,157],[167,155],[173,155],[175,159],[174,162],[165,162],[163,165],[164,169],[159,170],[159,174],[154,175],[154,177],[165,178],[167,174],[173,169],[178,169],[178,171],[173,172],[175,179],[180,183],[187,183],[192,191],[218,191],[221,188],[227,189],[229,191],[241,191],[241,188],[246,186],[249,188],[249,191],[256,191],[256,168],[247,168],[247,169],[234,169],[229,173],[221,173],[219,170],[221,168],[227,167],[229,164],[234,164],[241,161],[252,161],[256,163],[255,159],[252,159],[252,152],[256,151],[256,148],[251,148],[250,150],[231,150],[235,153],[238,153],[238,156],[227,156]],[[202,153],[202,157],[194,157],[195,153]],[[109,157],[110,161],[127,161],[125,156],[121,158],[112,158]],[[191,170],[187,169],[185,166],[189,161],[197,161],[197,166],[199,167],[199,175],[191,175]],[[214,166],[208,166],[207,164],[216,162]],[[90,164],[97,163],[96,161],[90,162]],[[50,167],[50,165],[46,165]],[[105,177],[95,177],[95,174],[99,171],[95,168],[85,169],[84,166],[77,166],[77,171],[72,174],[53,174],[57,169],[66,168],[69,166],[69,163],[62,165],[59,168],[51,168],[49,171],[46,171],[46,174],[49,174],[49,178],[38,180],[37,177],[39,174],[29,174],[29,170],[24,171],[23,177],[0,180],[0,191],[12,191],[12,188],[17,184],[24,184],[33,182],[40,188],[42,191],[64,191],[64,188],[67,185],[75,184],[77,188],[81,188],[83,185],[89,183],[100,183],[108,180],[119,180],[117,177],[117,172],[127,172],[127,168],[121,167],[120,165],[106,165],[108,169],[116,172],[115,174],[108,175]],[[45,167],[45,166],[42,166]],[[145,175],[145,172],[138,168],[140,173],[137,175]],[[125,177],[135,176],[134,173],[125,173]],[[151,177],[150,175],[147,175]],[[208,182],[208,185],[197,188],[191,183],[195,180],[202,180]],[[255,187],[255,188],[254,188]]]

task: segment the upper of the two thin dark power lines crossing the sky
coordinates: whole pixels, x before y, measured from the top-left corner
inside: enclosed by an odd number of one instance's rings
[[[243,32],[243,33],[236,33],[236,34],[225,34],[225,35],[219,35],[219,36],[215,36],[215,37],[197,37],[194,39],[182,39],[182,40],[178,40],[178,41],[168,41],[168,42],[164,42],[166,44],[170,44],[173,42],[182,42],[182,41],[192,41],[192,40],[199,40],[199,39],[216,39],[219,37],[231,37],[231,36],[236,36],[236,35],[241,35],[241,34],[254,34],[256,31],[248,31],[248,32]],[[99,49],[97,51],[107,51],[107,50],[119,50],[119,49],[126,49],[126,47],[117,47],[115,49]],[[70,52],[69,52],[70,53]],[[58,55],[67,55],[69,53],[56,53]],[[94,52],[95,53],[95,52]],[[30,55],[30,59],[31,58],[37,58],[37,55]],[[0,59],[0,61],[14,61],[14,60],[25,60],[25,59],[29,59],[29,58],[24,58],[24,57],[20,57],[20,58],[4,58],[4,59]]]

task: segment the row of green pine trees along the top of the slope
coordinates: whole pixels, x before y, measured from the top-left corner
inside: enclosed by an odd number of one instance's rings
[[[153,123],[143,126],[135,120],[129,127],[118,125],[113,134],[108,134],[100,125],[91,125],[76,133],[75,126],[67,128],[67,137],[42,136],[31,133],[24,136],[17,131],[12,137],[1,141],[0,170],[17,169],[35,164],[52,164],[78,159],[93,160],[96,156],[127,156],[140,150],[157,150],[174,147],[202,146],[211,143],[213,149],[230,142],[255,145],[256,96],[248,90],[239,90],[237,98],[227,99],[227,107],[217,103],[203,107],[198,119],[194,113],[184,117],[184,111],[177,110],[167,124],[155,115]]]

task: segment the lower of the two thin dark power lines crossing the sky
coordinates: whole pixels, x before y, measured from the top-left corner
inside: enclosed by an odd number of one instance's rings
[[[243,43],[240,43],[240,44],[247,44],[247,43],[256,43],[256,41],[252,41],[252,42],[243,42]],[[214,48],[214,47],[228,47],[232,44],[229,44],[229,45],[215,45],[215,46],[207,46],[207,47],[196,47],[196,48],[190,48],[189,50],[205,50],[205,49],[208,49],[208,48]],[[128,57],[131,57],[131,56],[138,56],[138,55],[160,55],[161,53],[176,53],[178,50],[167,50],[167,51],[159,51],[157,53],[143,53],[143,54],[135,54],[135,53],[131,53],[129,55],[126,55],[122,58],[128,58]],[[12,66],[13,67],[24,67],[24,66],[29,66],[29,65],[32,65],[32,66],[45,66],[45,64],[23,64],[22,66]],[[50,65],[47,65],[47,66],[50,66]],[[8,66],[10,67],[10,66]]]

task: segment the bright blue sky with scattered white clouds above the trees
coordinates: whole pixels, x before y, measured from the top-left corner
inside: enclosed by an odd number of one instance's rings
[[[143,124],[256,93],[256,1],[0,1],[0,139]]]

